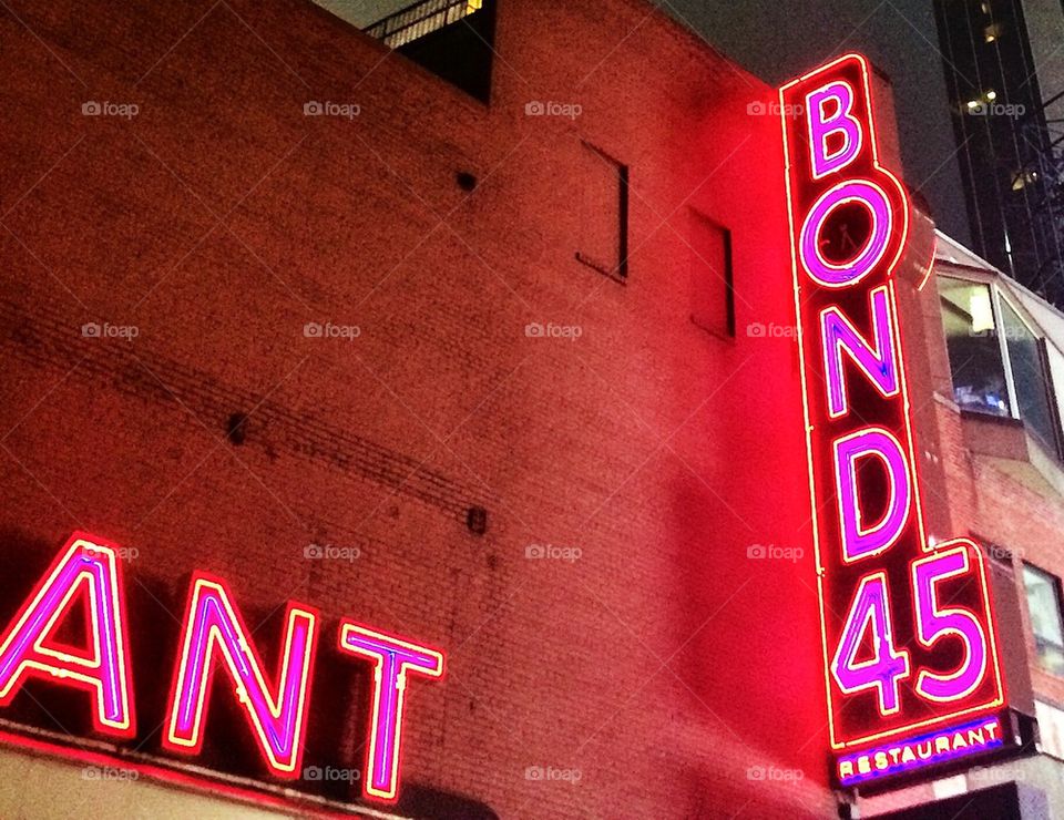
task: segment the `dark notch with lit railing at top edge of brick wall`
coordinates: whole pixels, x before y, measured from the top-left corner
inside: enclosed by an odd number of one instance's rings
[[[314,0],[482,102],[491,96],[494,0]]]

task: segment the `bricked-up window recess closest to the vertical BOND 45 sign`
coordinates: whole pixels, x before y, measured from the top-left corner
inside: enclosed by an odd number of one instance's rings
[[[692,321],[716,336],[734,338],[732,232],[692,208],[688,236]]]

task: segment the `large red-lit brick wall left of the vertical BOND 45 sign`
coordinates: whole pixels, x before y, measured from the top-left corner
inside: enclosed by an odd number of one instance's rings
[[[747,330],[794,321],[768,89],[626,0],[502,0],[490,106],[309,2],[11,9],[6,543],[43,566],[83,527],[164,603],[203,567],[441,647],[403,782],[502,817],[833,811],[797,350]],[[573,258],[581,140],[632,170],[625,285]],[[733,232],[734,341],[689,321],[688,206]]]

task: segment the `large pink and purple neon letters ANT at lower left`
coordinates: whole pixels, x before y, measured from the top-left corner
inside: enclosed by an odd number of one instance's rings
[[[137,735],[139,722],[145,721],[136,719],[134,678],[141,683],[143,696],[162,681],[150,666],[139,667],[134,675],[130,621],[117,547],[75,533],[0,637],[0,716],[9,717],[6,710],[20,705],[20,694],[22,706],[39,703],[41,690],[35,696],[23,690],[48,681],[52,694],[58,690],[68,700],[71,689],[91,696],[75,695],[71,705],[76,707],[75,716],[91,716],[93,736],[111,739],[120,749],[122,741],[140,738],[141,742],[131,744],[134,750],[151,742],[151,736]],[[81,637],[79,622],[83,624]],[[151,626],[137,623],[137,628]],[[211,725],[218,722],[209,719],[209,707],[213,704],[215,711],[227,707],[231,716],[243,718],[246,729],[226,725],[221,732],[216,727],[215,735],[233,729],[242,748],[254,750],[259,758],[257,765],[253,761],[243,770],[262,775],[259,779],[284,781],[290,788],[293,781],[306,779],[301,763],[320,656],[330,655],[332,667],[327,677],[334,678],[320,683],[334,687],[342,675],[337,667],[368,660],[369,697],[364,709],[368,731],[358,742],[366,749],[360,767],[365,776],[359,779],[365,797],[396,800],[410,679],[441,677],[443,655],[348,618],[339,621],[330,646],[319,646],[321,631],[316,609],[289,602],[280,646],[273,654],[276,662],[267,664],[262,654],[267,642],[256,638],[257,629],[248,629],[228,584],[203,572],[193,573],[180,634],[172,642],[160,642],[175,647],[158,738],[163,750],[176,760],[201,755]],[[142,673],[152,677],[141,680]],[[219,703],[223,700],[226,703]],[[337,717],[344,714],[341,707],[328,705]],[[335,725],[337,717],[319,722]],[[153,714],[146,722],[155,726],[160,716]],[[68,730],[65,725],[62,728]],[[126,760],[123,755],[123,765]]]

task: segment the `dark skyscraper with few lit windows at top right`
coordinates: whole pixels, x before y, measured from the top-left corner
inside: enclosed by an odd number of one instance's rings
[[[1060,305],[1064,7],[1055,0],[934,6],[972,247]]]

